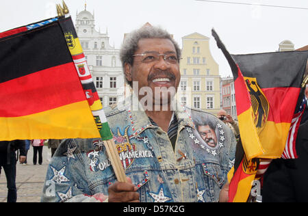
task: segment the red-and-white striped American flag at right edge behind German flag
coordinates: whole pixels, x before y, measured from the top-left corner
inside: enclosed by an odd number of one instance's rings
[[[300,126],[300,121],[302,120],[303,113],[305,108],[307,107],[307,98],[304,96],[303,101],[298,109],[298,111],[294,114],[291,127],[289,131],[289,135],[287,135],[287,143],[285,144],[285,150],[281,157],[283,159],[297,159],[298,155],[296,154],[295,142],[298,133],[298,128]]]

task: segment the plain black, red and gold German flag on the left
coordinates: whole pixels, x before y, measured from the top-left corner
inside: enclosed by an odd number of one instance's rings
[[[101,137],[57,18],[0,33],[0,140]]]

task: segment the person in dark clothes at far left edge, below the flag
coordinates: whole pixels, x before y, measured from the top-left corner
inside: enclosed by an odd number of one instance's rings
[[[8,202],[16,202],[16,150],[19,150],[19,161],[23,163],[26,159],[25,141],[0,141],[0,174],[1,168],[5,172],[8,187]]]

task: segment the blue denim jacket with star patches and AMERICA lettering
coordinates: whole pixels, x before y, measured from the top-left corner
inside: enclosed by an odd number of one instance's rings
[[[125,104],[105,114],[125,174],[138,187],[141,202],[218,202],[235,157],[235,137],[215,116],[177,106],[177,141],[153,126],[142,110]],[[210,125],[215,134],[205,139]],[[42,202],[96,202],[108,195],[116,176],[101,139],[66,139],[47,170]]]

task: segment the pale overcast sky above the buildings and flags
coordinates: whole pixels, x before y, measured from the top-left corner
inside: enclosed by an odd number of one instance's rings
[[[233,3],[308,8],[308,0],[217,0]],[[1,0],[0,32],[57,16],[60,0]],[[76,12],[94,11],[97,29],[108,29],[110,44],[120,48],[123,34],[149,22],[181,38],[198,32],[210,38],[211,53],[220,66],[220,75],[231,70],[211,36],[216,29],[232,54],[277,51],[279,43],[291,40],[295,48],[308,44],[308,10],[237,5],[195,0],[66,0],[75,22]]]

